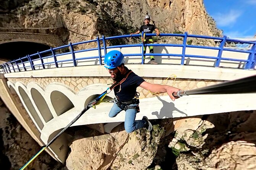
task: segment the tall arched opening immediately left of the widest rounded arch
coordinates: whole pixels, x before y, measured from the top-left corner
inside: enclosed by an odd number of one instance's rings
[[[35,88],[31,88],[31,96],[34,100],[39,112],[41,113],[42,117],[44,118],[45,122],[49,122],[53,119],[52,113],[44,99],[44,97],[37,91]]]

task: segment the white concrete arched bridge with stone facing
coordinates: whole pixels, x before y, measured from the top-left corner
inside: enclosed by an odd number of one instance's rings
[[[112,49],[113,50],[113,49]],[[141,47],[118,48],[125,54],[141,53]],[[181,53],[181,47],[155,47],[155,53]],[[203,48],[186,48],[191,55],[216,56],[219,50]],[[98,51],[76,53],[76,58],[95,56]],[[104,53],[104,51],[102,51]],[[71,55],[58,56],[62,61]],[[248,53],[223,51],[222,57],[247,59]],[[170,56],[156,56],[159,65],[131,64],[139,63],[141,58],[126,57],[126,66],[136,74],[151,83],[173,85],[182,90],[205,87],[228,80],[240,79],[255,75],[255,69],[241,69],[244,62],[222,61],[221,67],[213,67],[214,59],[185,58],[185,66],[178,65],[179,58]],[[50,62],[51,58],[45,59]],[[36,61],[36,63],[41,61]],[[147,59],[146,59],[147,63]],[[41,145],[47,144],[62,128],[66,127],[93,98],[106,90],[112,80],[104,66],[99,66],[98,59],[83,59],[77,61],[79,67],[72,62],[47,64],[42,69],[36,66],[34,71],[27,68],[23,72],[0,74],[0,96],[6,106],[29,134]],[[29,66],[29,63],[26,63]],[[63,68],[61,68],[63,67]],[[15,66],[14,66],[15,68]],[[17,69],[17,68],[16,68]],[[31,71],[29,71],[31,70]],[[167,79],[175,74],[176,80]],[[245,87],[246,88],[246,87]],[[149,119],[164,119],[170,117],[187,117],[194,115],[216,114],[222,112],[256,110],[254,100],[256,93],[232,95],[191,95],[183,96],[174,102],[161,94],[154,96],[148,91],[138,88],[140,92],[140,110],[136,119],[146,115]],[[113,92],[109,97],[113,98]],[[110,133],[111,129],[124,121],[124,112],[115,118],[108,117],[112,103],[102,103],[96,109],[89,109],[72,126],[89,125],[100,132]],[[47,150],[51,156],[60,162],[65,162],[68,151],[68,138],[61,135]]]

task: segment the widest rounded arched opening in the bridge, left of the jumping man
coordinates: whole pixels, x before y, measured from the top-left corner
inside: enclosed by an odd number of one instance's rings
[[[58,116],[75,107],[70,99],[60,91],[52,91],[50,98]]]

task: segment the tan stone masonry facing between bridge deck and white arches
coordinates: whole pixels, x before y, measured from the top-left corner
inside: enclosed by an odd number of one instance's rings
[[[168,79],[166,78],[149,78],[144,77],[144,79],[149,83],[159,83],[163,85],[170,85],[177,88],[180,88],[181,90],[191,90],[194,88],[200,88],[205,87],[209,85],[214,85],[219,82],[223,82],[221,80],[203,80],[203,79]],[[37,82],[39,85],[42,86],[42,88],[47,87],[50,83],[58,82],[65,84],[66,86],[73,89],[76,93],[79,90],[82,90],[87,85],[92,85],[96,83],[103,83],[103,84],[110,84],[112,83],[112,79],[109,77],[44,77],[44,78],[8,78],[8,80],[12,82],[21,81],[25,85],[28,85],[29,82]],[[140,98],[151,98],[152,94],[148,94],[149,91],[144,90],[142,88],[138,88],[138,91],[140,92]],[[164,95],[164,94],[160,94]]]

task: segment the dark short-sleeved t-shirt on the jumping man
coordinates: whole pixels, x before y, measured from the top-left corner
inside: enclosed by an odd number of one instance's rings
[[[144,81],[143,78],[131,72],[121,85],[114,88],[115,95],[121,102],[130,101],[136,95],[137,87]]]

